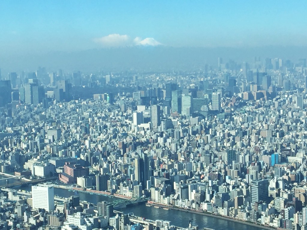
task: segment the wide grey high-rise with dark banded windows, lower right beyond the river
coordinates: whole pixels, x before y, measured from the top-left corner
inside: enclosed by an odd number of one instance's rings
[[[266,202],[269,198],[269,182],[262,179],[258,181],[252,181],[250,186],[251,204],[255,202]]]

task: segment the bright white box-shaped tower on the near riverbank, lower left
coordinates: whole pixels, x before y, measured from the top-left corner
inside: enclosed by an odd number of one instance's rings
[[[32,207],[46,211],[54,210],[53,186],[43,184],[32,186]]]

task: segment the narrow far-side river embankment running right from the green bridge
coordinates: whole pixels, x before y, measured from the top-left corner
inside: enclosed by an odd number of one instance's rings
[[[223,216],[219,216],[219,215],[215,215],[215,214],[210,214],[210,213],[204,213],[202,211],[196,211],[196,210],[192,210],[192,209],[181,209],[181,208],[177,208],[175,206],[172,205],[165,205],[165,204],[161,204],[161,203],[157,203],[157,202],[153,202],[153,201],[148,201],[148,204],[152,205],[152,206],[158,206],[161,208],[169,208],[169,209],[173,209],[173,210],[178,210],[178,211],[185,211],[188,213],[194,213],[194,214],[200,214],[203,216],[208,216],[208,217],[216,217],[219,219],[223,219],[223,220],[230,220],[236,223],[240,223],[240,224],[246,224],[249,226],[253,226],[253,227],[257,227],[257,228],[263,228],[263,229],[267,229],[267,230],[271,230],[271,229],[281,229],[281,228],[275,228],[275,227],[270,227],[270,226],[265,226],[265,225],[258,225],[258,224],[253,224],[250,222],[246,222],[244,220],[238,220],[238,219],[234,219],[231,217],[223,217]]]

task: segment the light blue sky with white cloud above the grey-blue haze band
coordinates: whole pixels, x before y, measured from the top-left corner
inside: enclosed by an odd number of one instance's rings
[[[307,45],[307,1],[0,0],[0,53]]]

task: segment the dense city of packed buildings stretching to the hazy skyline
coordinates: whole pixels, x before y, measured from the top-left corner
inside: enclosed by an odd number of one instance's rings
[[[306,59],[0,78],[0,229],[307,229]]]

